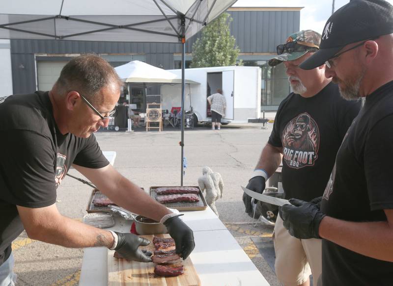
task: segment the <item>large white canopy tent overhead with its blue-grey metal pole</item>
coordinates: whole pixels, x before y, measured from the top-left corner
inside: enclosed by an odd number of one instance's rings
[[[4,1],[3,1],[4,2]],[[236,0],[12,0],[0,6],[0,39],[165,42],[182,46]],[[183,185],[184,112],[181,127]]]

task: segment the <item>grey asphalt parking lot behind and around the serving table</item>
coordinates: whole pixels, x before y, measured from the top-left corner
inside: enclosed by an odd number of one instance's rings
[[[220,219],[270,285],[281,285],[260,254],[253,239],[271,242],[272,226],[256,223],[245,212],[240,185],[246,185],[272,124],[229,124],[219,130],[210,126],[185,131],[184,154],[188,166],[184,185],[196,185],[202,168],[209,166],[222,175],[224,197],[216,202]],[[115,151],[114,167],[146,190],[153,185],[180,185],[180,131],[97,132],[103,151]],[[71,175],[82,177],[76,170]],[[92,188],[66,177],[57,190],[57,208],[65,216],[82,220]],[[17,285],[78,285],[83,249],[67,249],[30,240],[26,233],[13,243]]]

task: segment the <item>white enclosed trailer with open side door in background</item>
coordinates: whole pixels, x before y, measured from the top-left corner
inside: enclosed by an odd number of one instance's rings
[[[181,77],[181,70],[169,70]],[[259,67],[212,67],[186,69],[185,78],[200,84],[186,84],[185,110],[192,106],[197,122],[211,122],[207,97],[222,89],[226,99],[222,122],[244,123],[250,118],[260,118],[261,69]],[[163,109],[181,106],[181,85],[162,85]]]

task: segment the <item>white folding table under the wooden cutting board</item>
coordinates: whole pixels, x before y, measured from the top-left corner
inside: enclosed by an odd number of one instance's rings
[[[183,211],[182,219],[194,231],[190,257],[202,286],[268,286],[269,284],[225,225],[210,209]],[[116,217],[111,230],[129,232],[131,221]],[[80,286],[108,285],[107,248],[84,249]]]

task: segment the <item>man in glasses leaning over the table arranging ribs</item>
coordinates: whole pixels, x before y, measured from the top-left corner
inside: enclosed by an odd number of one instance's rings
[[[71,165],[118,206],[164,223],[186,259],[193,231],[168,208],[118,173],[92,134],[107,127],[122,82],[94,54],[69,61],[52,90],[0,98],[0,285],[13,285],[11,243],[25,229],[31,239],[65,247],[106,246],[128,260],[151,258],[130,233],[91,227],[62,216],[56,187]]]

